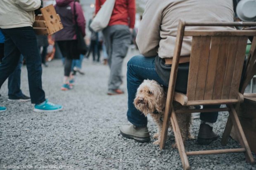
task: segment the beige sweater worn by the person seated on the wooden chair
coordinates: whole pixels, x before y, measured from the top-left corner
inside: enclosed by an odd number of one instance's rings
[[[232,0],[147,0],[136,38],[140,53],[146,57],[173,57],[178,21],[181,18],[187,22],[233,22],[233,3]],[[195,29],[223,28],[186,28]],[[181,56],[190,55],[191,43],[191,37],[184,37]]]

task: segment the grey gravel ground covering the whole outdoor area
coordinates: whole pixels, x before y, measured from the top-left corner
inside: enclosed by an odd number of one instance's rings
[[[129,51],[123,75],[128,59],[137,53]],[[48,68],[43,68],[43,88],[47,98],[64,106],[64,110],[57,113],[35,113],[31,103],[9,102],[7,83],[2,86],[0,105],[8,110],[0,113],[0,169],[6,169],[4,165],[33,165],[31,169],[51,169],[50,165],[76,170],[182,169],[178,150],[171,148],[173,133],[169,133],[166,149],[162,151],[152,142],[138,143],[123,138],[119,129],[128,124],[127,93],[106,94],[107,66],[84,60],[83,70],[86,74],[76,77],[75,88],[62,92],[61,60],[54,60]],[[23,67],[21,89],[24,94],[29,94],[27,82],[26,68]],[[126,89],[126,83],[123,89]],[[223,133],[227,116],[228,113],[220,114],[214,124],[219,135]],[[193,120],[194,136],[197,136],[199,123],[199,119]],[[148,127],[151,134],[156,132],[150,118]],[[229,147],[238,148],[239,144],[230,138],[224,148]],[[209,146],[198,145],[196,140],[186,142],[189,151],[219,148],[223,148],[220,139]],[[256,170],[255,165],[245,163],[244,154],[191,156],[189,161],[192,170]]]

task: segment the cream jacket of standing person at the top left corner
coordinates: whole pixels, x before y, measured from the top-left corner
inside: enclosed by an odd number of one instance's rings
[[[32,27],[40,5],[40,0],[0,0],[0,28]]]

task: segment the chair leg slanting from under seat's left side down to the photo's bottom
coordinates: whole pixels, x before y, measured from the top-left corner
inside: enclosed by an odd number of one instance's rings
[[[171,124],[172,124],[172,127],[173,127],[175,142],[176,142],[178,150],[179,150],[180,159],[181,159],[181,162],[182,162],[182,165],[183,165],[183,169],[184,170],[189,170],[190,169],[190,164],[189,164],[188,159],[187,159],[187,154],[185,152],[185,147],[184,147],[184,144],[183,144],[182,136],[181,136],[181,133],[180,133],[180,128],[179,128],[179,125],[178,125],[178,122],[177,122],[177,118],[176,118],[176,114],[175,114],[174,109],[172,109],[172,112],[171,112]]]

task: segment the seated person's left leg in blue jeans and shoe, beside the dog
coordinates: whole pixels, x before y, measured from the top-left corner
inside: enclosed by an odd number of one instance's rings
[[[133,104],[137,88],[145,79],[156,80],[161,85],[166,86],[156,73],[155,57],[138,55],[131,58],[127,64],[127,118],[132,125],[121,126],[120,133],[124,137],[133,138],[138,142],[148,142],[150,140],[147,129],[147,117],[137,110]]]

